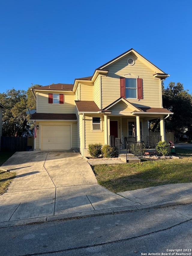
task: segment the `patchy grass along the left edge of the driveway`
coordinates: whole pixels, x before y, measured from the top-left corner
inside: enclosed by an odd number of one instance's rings
[[[7,161],[8,158],[10,158],[15,152],[0,152],[0,166]],[[14,176],[16,176],[15,172],[6,172],[1,170],[0,167],[0,195],[3,194],[12,179],[14,179]]]

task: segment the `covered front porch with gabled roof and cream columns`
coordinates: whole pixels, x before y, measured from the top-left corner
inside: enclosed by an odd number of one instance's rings
[[[115,138],[120,138],[121,149],[126,148],[127,138],[144,141],[146,148],[154,148],[165,140],[164,120],[172,112],[164,108],[137,107],[124,98],[110,104],[102,110],[104,114],[104,143],[114,145]],[[160,119],[160,134],[149,134],[149,120]]]

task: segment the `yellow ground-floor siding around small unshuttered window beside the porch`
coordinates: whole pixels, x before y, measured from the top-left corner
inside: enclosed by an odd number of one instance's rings
[[[94,115],[94,117],[101,117],[102,131],[92,130],[92,116],[85,116],[85,148],[88,148],[90,143],[101,143],[104,145],[104,116]]]

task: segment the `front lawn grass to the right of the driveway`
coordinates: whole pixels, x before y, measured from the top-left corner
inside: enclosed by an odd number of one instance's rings
[[[138,164],[92,166],[98,183],[117,193],[171,183],[192,182],[192,150],[177,149],[180,159],[144,160]]]

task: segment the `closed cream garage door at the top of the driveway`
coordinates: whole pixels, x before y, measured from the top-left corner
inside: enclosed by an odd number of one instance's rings
[[[70,125],[41,125],[41,150],[70,149]]]

